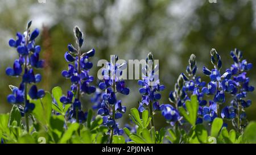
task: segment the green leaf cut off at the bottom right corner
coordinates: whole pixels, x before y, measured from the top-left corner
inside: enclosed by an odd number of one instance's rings
[[[250,122],[243,133],[243,141],[245,143],[256,143],[256,122]]]

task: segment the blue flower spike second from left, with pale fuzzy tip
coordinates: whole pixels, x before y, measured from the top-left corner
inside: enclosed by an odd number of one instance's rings
[[[68,64],[68,70],[63,70],[61,73],[63,77],[71,80],[71,90],[68,91],[67,96],[60,98],[60,102],[64,104],[72,104],[67,111],[68,119],[76,119],[77,123],[83,123],[86,120],[86,112],[82,111],[80,96],[83,93],[92,94],[96,91],[96,87],[90,86],[93,81],[93,76],[89,75],[89,70],[93,64],[89,61],[94,56],[95,50],[91,49],[88,52],[81,52],[81,47],[84,43],[84,37],[79,27],[74,28],[77,48],[72,44],[68,44],[68,51],[65,52],[64,58]]]

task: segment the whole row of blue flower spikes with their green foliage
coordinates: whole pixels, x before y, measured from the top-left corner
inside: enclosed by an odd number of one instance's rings
[[[31,31],[31,23],[23,34],[16,33],[16,40],[9,41],[18,58],[6,74],[21,77],[21,82],[19,87],[9,86],[7,100],[13,108],[10,114],[0,114],[1,143],[256,143],[256,123],[246,120],[245,111],[252,103],[247,93],[254,91],[246,76],[252,64],[242,59],[238,49],[230,52],[234,64],[225,72],[221,71],[221,56],[215,49],[210,51],[213,68],[202,69],[209,82],[197,76],[196,56],[192,54],[186,73],[178,77],[166,104],[159,101],[166,87],[156,80],[159,66],[149,53],[138,80],[142,98],[138,107],[130,110],[131,122],[122,128],[118,119],[127,111],[117,95],[130,94],[122,79],[126,63],[117,64],[119,57],[113,56],[102,69],[103,79],[92,86],[94,77],[89,73],[95,50],[82,52],[84,34],[76,26],[76,44],[68,44],[64,54],[68,69],[61,73],[71,81],[67,95],[61,87],[54,87],[51,93],[38,89],[36,83],[42,76],[34,71],[43,68],[44,60],[39,59],[41,48],[35,44],[39,30]],[[82,97],[91,99],[92,109],[82,107]],[[168,123],[167,129],[155,128],[158,112]]]

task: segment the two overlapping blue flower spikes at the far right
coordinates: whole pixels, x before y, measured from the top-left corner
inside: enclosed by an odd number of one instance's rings
[[[224,74],[221,74],[220,55],[215,49],[212,49],[210,54],[214,69],[210,71],[203,68],[204,74],[210,77],[210,82],[208,87],[204,87],[202,91],[205,95],[214,97],[210,100],[210,107],[204,107],[204,119],[212,122],[214,118],[221,116],[232,120],[234,127],[240,131],[247,123],[244,109],[251,104],[251,100],[245,99],[247,92],[254,91],[254,87],[249,85],[250,78],[246,77],[246,72],[252,68],[252,64],[242,60],[242,52],[235,49],[230,52],[234,64],[230,69],[226,69]],[[225,97],[228,94],[233,99],[228,106],[220,110],[219,105],[225,103]]]

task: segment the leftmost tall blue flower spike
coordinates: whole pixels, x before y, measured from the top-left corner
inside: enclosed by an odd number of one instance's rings
[[[20,113],[22,116],[28,115],[35,108],[34,103],[30,103],[27,99],[27,87],[28,84],[32,84],[28,95],[31,99],[43,98],[44,90],[38,90],[35,83],[41,81],[40,74],[34,74],[34,69],[43,68],[44,60],[39,59],[39,53],[41,48],[39,45],[35,45],[35,39],[39,35],[39,30],[36,28],[31,32],[31,21],[28,22],[26,31],[22,33],[16,33],[16,39],[10,39],[10,47],[16,48],[19,58],[14,60],[13,68],[6,68],[7,76],[22,77],[22,82],[19,88],[10,86],[12,94],[8,95],[7,101],[12,104],[18,104]],[[23,74],[22,74],[23,73]],[[27,124],[27,131],[29,125]]]

